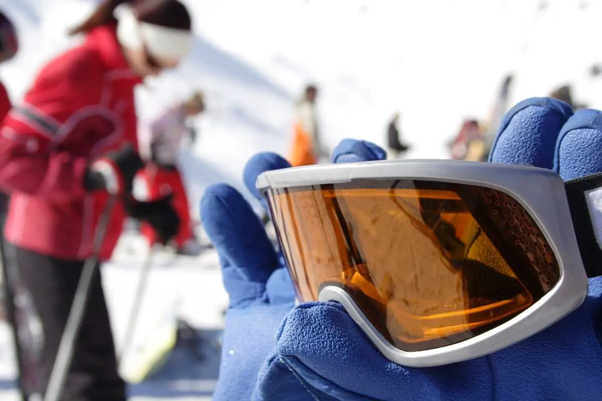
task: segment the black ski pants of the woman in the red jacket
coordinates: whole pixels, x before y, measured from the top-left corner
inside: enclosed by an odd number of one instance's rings
[[[37,387],[43,394],[48,386],[84,262],[54,259],[18,247],[16,259],[22,283],[31,293],[43,326],[44,347],[37,375]],[[101,276],[98,274],[90,290],[61,400],[125,399],[126,386],[117,372],[113,334]]]

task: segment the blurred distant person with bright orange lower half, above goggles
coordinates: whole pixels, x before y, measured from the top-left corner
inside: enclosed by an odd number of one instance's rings
[[[322,143],[315,112],[318,88],[307,85],[303,97],[297,103],[293,126],[293,148],[289,161],[293,167],[317,164],[327,158],[328,152]]]

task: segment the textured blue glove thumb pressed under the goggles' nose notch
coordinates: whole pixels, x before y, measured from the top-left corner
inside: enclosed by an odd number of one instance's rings
[[[276,352],[293,374],[332,399],[470,400],[492,394],[486,358],[411,369],[391,363],[335,302],[308,302],[295,307],[278,332]],[[269,361],[259,378],[270,375]],[[361,380],[358,380],[361,378]],[[262,390],[271,399],[270,383]],[[357,397],[362,394],[364,398]],[[282,394],[286,395],[286,394]],[[286,398],[286,397],[283,397]],[[330,398],[328,398],[330,399]]]

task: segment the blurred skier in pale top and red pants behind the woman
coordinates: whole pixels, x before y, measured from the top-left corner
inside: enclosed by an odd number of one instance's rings
[[[196,255],[200,253],[200,244],[193,234],[190,220],[190,204],[177,159],[182,138],[188,135],[194,142],[195,130],[187,126],[188,118],[195,117],[205,110],[205,101],[200,92],[180,105],[168,109],[157,120],[147,124],[141,130],[140,142],[143,158],[149,161],[141,173],[146,185],[148,199],[156,199],[172,194],[172,205],[178,212],[180,228],[174,238],[179,254]],[[141,225],[141,232],[150,246],[157,242],[157,234],[149,224]]]

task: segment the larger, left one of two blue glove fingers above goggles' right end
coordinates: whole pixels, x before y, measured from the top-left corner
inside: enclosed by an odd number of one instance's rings
[[[523,100],[501,121],[489,162],[553,168],[556,139],[571,115],[573,109],[561,100]]]

